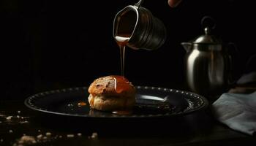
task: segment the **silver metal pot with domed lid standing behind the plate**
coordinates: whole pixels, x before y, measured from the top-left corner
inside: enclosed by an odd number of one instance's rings
[[[208,98],[215,98],[227,91],[232,80],[233,57],[227,48],[233,43],[223,44],[211,34],[210,27],[191,42],[181,42],[186,50],[184,56],[185,76],[188,88]]]

